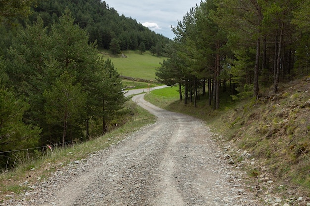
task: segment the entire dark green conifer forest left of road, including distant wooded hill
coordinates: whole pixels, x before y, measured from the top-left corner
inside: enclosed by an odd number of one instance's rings
[[[3,3],[2,3],[3,2]],[[0,167],[46,146],[101,135],[131,116],[122,80],[98,48],[120,53],[171,41],[100,0],[0,3]],[[31,150],[24,150],[33,148]]]

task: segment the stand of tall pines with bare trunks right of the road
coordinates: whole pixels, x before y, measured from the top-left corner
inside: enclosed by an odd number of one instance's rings
[[[223,92],[276,94],[279,83],[309,75],[309,13],[309,0],[202,1],[173,28],[158,80],[179,84],[185,104],[208,93],[214,109]]]

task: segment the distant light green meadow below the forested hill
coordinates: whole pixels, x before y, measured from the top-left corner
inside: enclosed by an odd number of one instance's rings
[[[143,54],[138,51],[123,51],[127,58],[111,55],[107,50],[101,50],[100,54],[104,59],[109,58],[122,76],[153,81],[156,81],[155,72],[160,67],[159,62],[165,59],[153,56],[149,51]]]

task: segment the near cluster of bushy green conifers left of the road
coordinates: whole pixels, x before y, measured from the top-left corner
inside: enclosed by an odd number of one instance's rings
[[[68,9],[49,27],[38,16],[12,39],[0,59],[0,151],[64,146],[119,122],[121,78],[88,40]],[[12,166],[4,157],[0,166]]]

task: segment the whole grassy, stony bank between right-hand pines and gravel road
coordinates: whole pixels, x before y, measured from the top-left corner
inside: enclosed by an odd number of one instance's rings
[[[264,189],[264,198],[275,193],[310,200],[310,77],[281,85],[278,94],[267,93],[257,101],[225,105],[223,100],[221,109],[215,111],[206,103],[197,108],[191,103],[184,106],[176,101],[177,96],[163,107],[204,119],[234,158],[235,166],[245,168]],[[169,101],[158,95],[146,98],[156,105]],[[266,185],[262,182],[266,179],[274,183]],[[306,202],[298,205],[303,204]]]

